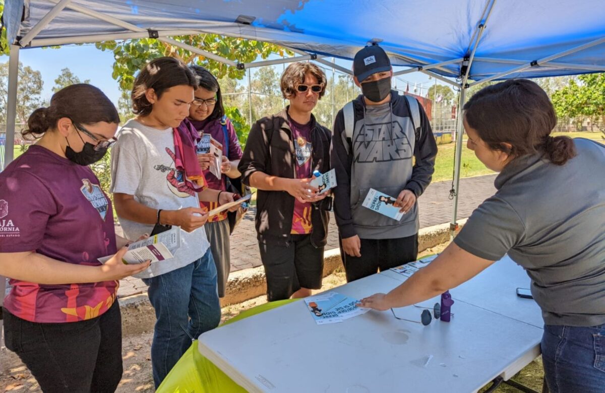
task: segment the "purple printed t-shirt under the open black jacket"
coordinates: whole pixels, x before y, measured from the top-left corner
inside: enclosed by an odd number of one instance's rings
[[[296,178],[307,179],[311,177],[311,156],[313,146],[311,146],[311,122],[302,125],[296,123],[290,117],[290,129],[294,140]],[[310,203],[301,203],[294,200],[294,215],[292,216],[291,234],[311,233],[311,209]]]

